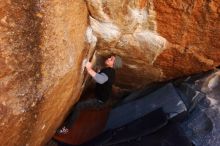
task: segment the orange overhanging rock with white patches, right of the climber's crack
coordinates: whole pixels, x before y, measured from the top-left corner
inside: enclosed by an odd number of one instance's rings
[[[98,53],[119,54],[118,84],[150,82],[206,71],[220,64],[217,0],[87,0]]]

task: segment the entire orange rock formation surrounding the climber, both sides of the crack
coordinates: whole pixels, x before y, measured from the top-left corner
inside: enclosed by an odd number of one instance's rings
[[[123,88],[220,65],[218,0],[2,0],[0,32],[3,146],[52,137],[80,98],[94,49],[122,58]]]

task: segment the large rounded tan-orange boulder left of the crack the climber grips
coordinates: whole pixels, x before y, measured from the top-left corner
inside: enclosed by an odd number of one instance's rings
[[[81,92],[87,26],[84,1],[0,2],[0,145],[52,137]]]

